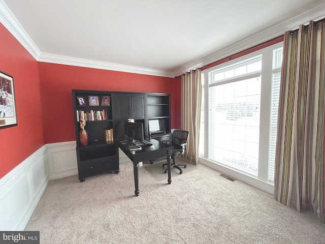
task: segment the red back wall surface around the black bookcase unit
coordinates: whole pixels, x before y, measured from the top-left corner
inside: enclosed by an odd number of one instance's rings
[[[172,128],[180,126],[181,80],[39,63],[45,143],[76,140],[72,89],[170,93]]]

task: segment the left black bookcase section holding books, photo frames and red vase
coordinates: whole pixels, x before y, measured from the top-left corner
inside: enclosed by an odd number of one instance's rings
[[[112,93],[95,90],[72,90],[74,123],[77,141],[77,162],[79,180],[107,172],[119,172],[118,143],[114,136]],[[91,106],[91,98],[96,105]],[[102,100],[108,98],[108,103],[102,105]],[[81,99],[81,102],[79,102]],[[106,100],[106,101],[107,101]],[[84,104],[83,104],[83,102]],[[80,117],[86,119],[85,130],[88,134],[86,146],[80,141]],[[113,129],[113,130],[111,130]],[[110,141],[105,138],[105,130],[110,130],[113,137]]]

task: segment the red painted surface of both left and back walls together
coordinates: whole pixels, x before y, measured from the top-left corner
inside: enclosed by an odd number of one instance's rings
[[[72,89],[170,93],[180,128],[181,79],[37,62],[0,24],[0,70],[14,77],[18,126],[0,130],[0,178],[46,143],[73,141]]]

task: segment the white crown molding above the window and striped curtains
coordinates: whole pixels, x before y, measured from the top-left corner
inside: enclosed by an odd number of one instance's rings
[[[192,63],[184,65],[174,71],[174,76],[178,76],[182,73],[185,73],[189,70],[196,69],[198,67],[209,65],[233,53],[240,52],[247,48],[271,40],[272,38],[281,36],[286,31],[297,29],[299,25],[308,24],[310,20],[316,21],[324,17],[325,17],[325,3],[315,8],[312,8],[310,10],[307,10],[305,12],[302,12],[291,18],[279,21],[271,26],[268,26],[264,29],[261,29],[258,32],[255,32],[247,36],[246,38],[240,39],[239,41],[232,43],[231,45],[224,46],[207,56],[204,56]]]

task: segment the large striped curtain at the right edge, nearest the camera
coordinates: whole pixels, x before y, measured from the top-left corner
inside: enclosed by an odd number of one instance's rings
[[[274,197],[325,223],[325,24],[284,35]]]

